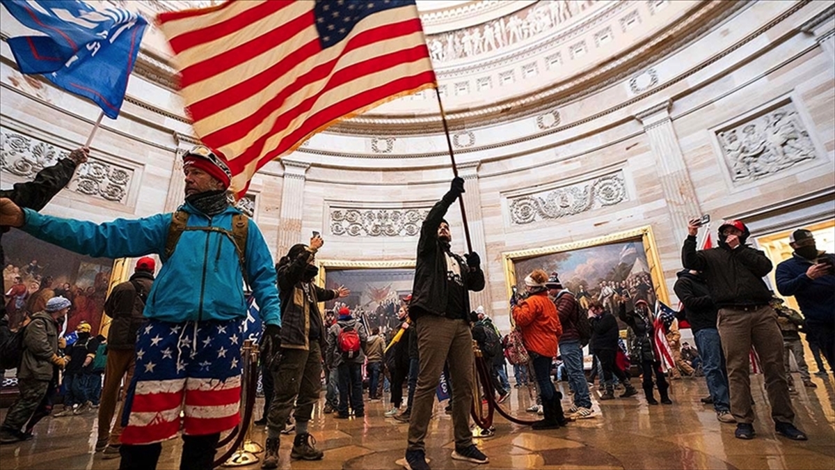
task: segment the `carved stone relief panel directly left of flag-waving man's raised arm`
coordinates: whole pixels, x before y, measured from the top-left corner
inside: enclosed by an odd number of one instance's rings
[[[349,237],[416,237],[429,209],[332,209],[331,233]]]

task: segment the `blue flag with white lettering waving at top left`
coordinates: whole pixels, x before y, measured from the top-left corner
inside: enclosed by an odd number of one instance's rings
[[[148,22],[121,8],[68,0],[3,0],[18,20],[8,39],[18,69],[93,100],[116,119]],[[17,28],[15,28],[17,27]]]

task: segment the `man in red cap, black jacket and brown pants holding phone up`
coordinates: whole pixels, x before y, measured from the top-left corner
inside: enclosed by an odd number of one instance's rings
[[[738,220],[721,224],[718,247],[696,251],[699,227],[698,219],[689,222],[688,235],[681,248],[681,263],[687,269],[701,272],[711,299],[719,308],[717,327],[725,351],[731,414],[736,419],[735,436],[752,439],[755,435],[748,364],[753,346],[765,375],[775,432],[792,440],[807,440],[806,434],[793,424],[782,335],[777,314],[768,305],[772,293],[762,280],[772,270],[771,260],[762,251],[746,245],[751,232]]]

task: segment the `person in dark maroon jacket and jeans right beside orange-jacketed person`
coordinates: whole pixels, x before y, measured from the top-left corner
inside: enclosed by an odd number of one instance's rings
[[[580,314],[577,299],[559,282],[557,273],[551,273],[545,287],[548,288],[549,299],[557,308],[559,324],[563,325],[563,335],[559,337],[559,355],[563,358],[565,372],[569,377],[569,387],[574,391],[574,404],[569,408],[569,418],[594,417],[589,384],[585,381],[583,369],[583,347],[591,339],[589,320]]]

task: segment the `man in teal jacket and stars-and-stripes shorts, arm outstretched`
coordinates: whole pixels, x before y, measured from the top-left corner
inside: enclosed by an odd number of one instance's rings
[[[266,335],[281,330],[276,269],[255,222],[226,197],[230,171],[215,151],[183,157],[185,204],[175,217],[95,224],[51,217],[0,199],[0,225],[93,257],[158,253],[163,266],[145,303],[136,371],[121,416],[122,469],[155,468],[161,442],[183,432],[180,468],[212,468],[220,432],[240,421],[244,282],[261,307]],[[185,223],[171,229],[177,216]],[[186,217],[187,216],[187,217]],[[246,224],[245,242],[236,238]],[[177,225],[175,225],[177,227]],[[173,251],[168,239],[180,235]],[[237,244],[245,245],[239,257]],[[166,249],[167,248],[167,249]],[[185,418],[180,418],[180,414]]]

